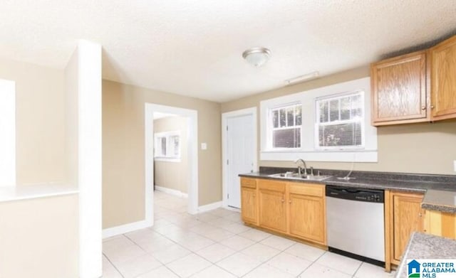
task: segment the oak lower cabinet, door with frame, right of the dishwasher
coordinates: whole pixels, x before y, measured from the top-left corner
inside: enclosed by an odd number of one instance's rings
[[[424,231],[422,202],[423,194],[420,193],[385,191],[387,264],[399,264],[410,235],[415,231]]]

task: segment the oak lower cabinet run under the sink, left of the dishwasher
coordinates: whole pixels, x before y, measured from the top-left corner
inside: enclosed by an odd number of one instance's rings
[[[242,219],[251,223],[250,188],[242,186]],[[244,193],[245,192],[245,193]],[[284,235],[326,245],[325,186],[257,180],[258,225]],[[244,200],[245,205],[244,205]],[[245,216],[244,216],[245,215]]]

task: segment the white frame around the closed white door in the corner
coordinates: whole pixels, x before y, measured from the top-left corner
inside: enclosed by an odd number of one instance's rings
[[[252,121],[254,126],[254,148],[253,148],[253,157],[254,157],[254,171],[258,170],[258,139],[257,139],[257,107],[249,107],[246,109],[235,110],[231,112],[222,113],[222,206],[228,208],[228,138],[227,138],[227,120],[229,118],[252,115]],[[239,185],[240,186],[240,185]]]

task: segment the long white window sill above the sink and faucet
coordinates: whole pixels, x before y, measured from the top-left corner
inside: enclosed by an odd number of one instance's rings
[[[304,159],[306,161],[327,161],[327,162],[378,162],[377,150],[357,151],[301,151],[301,150],[274,150],[261,151],[260,160],[269,161],[295,161]]]

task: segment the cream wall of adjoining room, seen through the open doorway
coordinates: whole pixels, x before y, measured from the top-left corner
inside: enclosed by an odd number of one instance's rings
[[[186,117],[165,117],[154,120],[154,134],[157,132],[180,132],[180,161],[154,160],[154,184],[187,193],[188,141]]]

